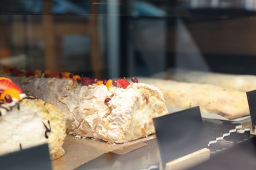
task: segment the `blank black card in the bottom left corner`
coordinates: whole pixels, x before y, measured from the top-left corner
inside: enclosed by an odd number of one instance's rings
[[[0,156],[0,169],[52,169],[48,144]]]

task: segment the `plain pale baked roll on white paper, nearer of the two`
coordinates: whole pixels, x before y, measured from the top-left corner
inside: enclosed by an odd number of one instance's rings
[[[198,84],[142,78],[140,82],[158,87],[166,105],[188,109],[200,106],[201,112],[216,113],[230,120],[249,115],[249,106],[244,92],[211,84]]]

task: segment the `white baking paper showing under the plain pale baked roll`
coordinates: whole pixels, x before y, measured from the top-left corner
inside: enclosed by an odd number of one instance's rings
[[[172,112],[177,112],[177,111],[180,111],[182,109],[179,109],[177,107],[171,107],[169,105],[166,106],[169,113],[172,113]],[[235,118],[235,119],[227,119],[227,118],[224,118],[223,116],[220,116],[219,114],[216,114],[216,113],[205,113],[205,112],[201,112],[201,115],[202,115],[202,118],[209,118],[209,119],[217,119],[217,120],[226,120],[226,121],[231,121],[231,122],[238,122],[238,121],[241,121],[241,120],[245,120],[247,118],[249,118],[250,116],[244,116],[242,118]]]

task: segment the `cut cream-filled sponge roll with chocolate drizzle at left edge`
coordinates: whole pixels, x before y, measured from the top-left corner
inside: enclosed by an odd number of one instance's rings
[[[0,78],[0,154],[48,143],[51,159],[59,158],[64,154],[65,127],[61,110]]]

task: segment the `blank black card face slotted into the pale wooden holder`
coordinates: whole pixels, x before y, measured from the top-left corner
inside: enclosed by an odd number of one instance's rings
[[[163,165],[207,146],[199,107],[154,118],[154,126]]]

